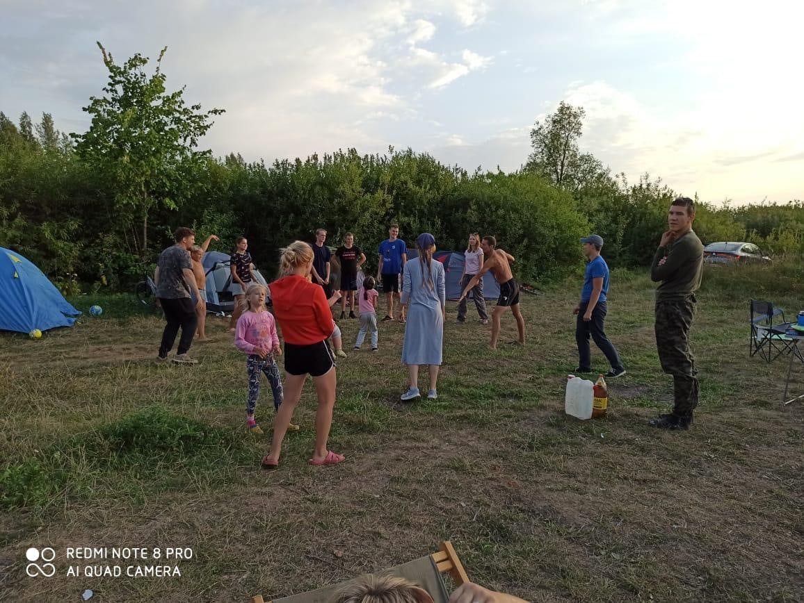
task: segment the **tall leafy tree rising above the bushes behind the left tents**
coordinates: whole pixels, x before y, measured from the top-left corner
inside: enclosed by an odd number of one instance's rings
[[[175,210],[198,188],[191,177],[209,151],[196,151],[199,139],[211,128],[210,117],[222,109],[201,112],[188,107],[184,88],[166,92],[162,48],[154,75],[144,67],[149,59],[133,55],[122,65],[97,43],[109,70],[106,96],[90,97],[84,111],[92,124],[84,134],[72,133],[80,157],[105,173],[113,187],[117,213],[131,229],[133,250],[148,250],[148,219],[155,207]],[[136,222],[142,230],[135,226]]]

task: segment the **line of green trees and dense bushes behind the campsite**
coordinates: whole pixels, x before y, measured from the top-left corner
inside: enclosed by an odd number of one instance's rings
[[[562,102],[531,130],[531,156],[512,173],[469,173],[428,153],[355,149],[306,159],[248,162],[198,149],[221,109],[187,106],[168,92],[159,55],[115,63],[102,96],[84,108],[87,132],[68,135],[44,113],[15,123],[0,112],[0,246],[35,262],[57,283],[129,287],[150,271],[176,226],[217,234],[221,251],[245,236],[272,274],[278,250],[318,227],[330,242],[355,234],[368,251],[400,225],[411,244],[423,231],[439,248],[462,250],[467,234],[494,234],[525,281],[551,279],[582,263],[578,238],[605,238],[613,266],[650,261],[675,191],[649,175],[630,183],[580,153],[584,110]],[[804,206],[732,207],[699,202],[705,242],[747,240],[775,254],[804,252]],[[367,253],[375,262],[375,254]],[[371,269],[371,268],[370,268]]]

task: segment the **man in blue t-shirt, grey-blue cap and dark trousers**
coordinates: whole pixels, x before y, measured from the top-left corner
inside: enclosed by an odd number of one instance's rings
[[[611,370],[606,377],[621,377],[626,369],[620,361],[617,349],[609,341],[603,330],[606,313],[606,294],[609,292],[609,266],[601,258],[603,238],[597,234],[581,238],[584,244],[586,264],[584,288],[580,291],[580,304],[572,311],[578,316],[575,324],[575,340],[578,344],[578,367],[576,373],[592,373],[592,351],[589,348],[589,336],[592,336],[598,348],[609,360]]]

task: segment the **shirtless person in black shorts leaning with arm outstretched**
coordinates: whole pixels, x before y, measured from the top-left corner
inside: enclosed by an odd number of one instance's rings
[[[483,237],[480,246],[486,260],[477,275],[469,281],[466,289],[461,293],[464,299],[469,291],[480,282],[486,272],[491,272],[494,279],[500,286],[500,296],[497,299],[497,307],[491,314],[491,349],[497,349],[497,338],[500,334],[500,316],[503,316],[506,308],[511,308],[516,319],[516,328],[519,331],[519,339],[511,341],[512,344],[525,344],[525,319],[519,311],[519,285],[514,280],[511,272],[511,264],[514,263],[514,256],[506,253],[502,249],[496,249],[497,239],[494,237]],[[458,302],[461,301],[458,299]]]

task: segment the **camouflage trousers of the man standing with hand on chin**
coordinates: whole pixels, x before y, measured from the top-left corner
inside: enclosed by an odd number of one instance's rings
[[[698,371],[689,344],[695,295],[656,302],[656,348],[662,370],[673,376],[673,414],[691,415],[698,405]]]

